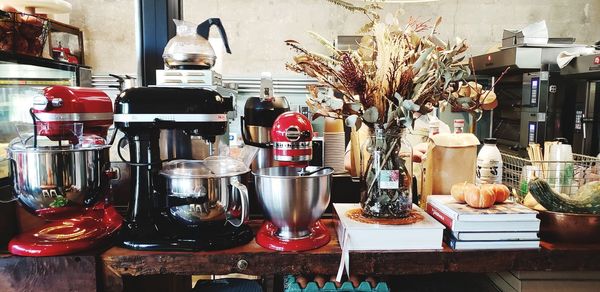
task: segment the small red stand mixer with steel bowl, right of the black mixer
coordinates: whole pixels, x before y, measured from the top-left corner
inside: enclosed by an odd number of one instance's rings
[[[265,248],[311,250],[331,239],[319,218],[329,205],[333,169],[308,167],[312,135],[310,120],[297,112],[283,113],[273,123],[273,160],[280,166],[253,172],[267,218],[256,242]]]

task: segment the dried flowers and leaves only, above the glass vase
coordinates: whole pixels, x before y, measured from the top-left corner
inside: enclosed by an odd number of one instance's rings
[[[316,33],[310,34],[330,56],[310,52],[297,41],[286,41],[298,52],[287,68],[321,84],[309,87],[307,104],[314,117],[345,118],[349,126],[360,120],[371,128],[386,125],[410,111],[432,111],[441,100],[451,98],[451,82],[471,74],[469,64],[463,63],[466,42],[457,38],[450,44],[438,37],[441,18],[432,25],[414,18],[401,25],[395,17],[381,21],[377,3],[359,7],[342,0],[328,1],[364,13],[369,21],[361,28],[366,35],[357,50],[338,50]],[[332,88],[337,95],[320,87]]]

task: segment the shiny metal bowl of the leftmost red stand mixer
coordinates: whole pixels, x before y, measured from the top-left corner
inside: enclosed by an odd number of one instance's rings
[[[14,193],[28,211],[90,206],[109,191],[109,146],[9,146]]]

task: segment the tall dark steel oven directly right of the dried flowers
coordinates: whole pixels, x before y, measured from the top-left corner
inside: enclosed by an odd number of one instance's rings
[[[567,82],[560,75],[556,57],[561,51],[578,52],[584,47],[513,47],[475,56],[478,75],[498,77],[510,67],[495,87],[498,108],[494,110],[492,136],[499,147],[526,155],[530,143],[542,144],[564,136],[563,111]]]

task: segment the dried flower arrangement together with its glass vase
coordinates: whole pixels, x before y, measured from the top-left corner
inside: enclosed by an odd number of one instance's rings
[[[407,159],[400,154],[401,122],[403,118],[411,120],[415,112],[431,112],[440,106],[440,101],[477,110],[481,90],[474,91],[478,98],[473,108],[470,103],[463,106],[460,97],[453,95],[461,81],[468,85],[465,79],[472,72],[470,64],[463,62],[468,46],[460,38],[453,44],[440,39],[437,30],[441,18],[433,23],[409,18],[406,24],[400,24],[393,16],[382,20],[377,3],[359,7],[343,0],[327,1],[363,13],[369,19],[361,28],[365,36],[358,48],[342,51],[310,33],[329,54],[308,51],[297,41],[288,40],[286,44],[298,54],[286,66],[319,82],[309,86],[307,104],[313,117],[345,119],[351,128],[351,159],[354,166],[359,166],[363,214],[406,217],[412,208],[412,163],[410,154]],[[362,123],[376,137],[366,165],[356,142],[356,129]],[[392,174],[398,179],[390,179]]]

